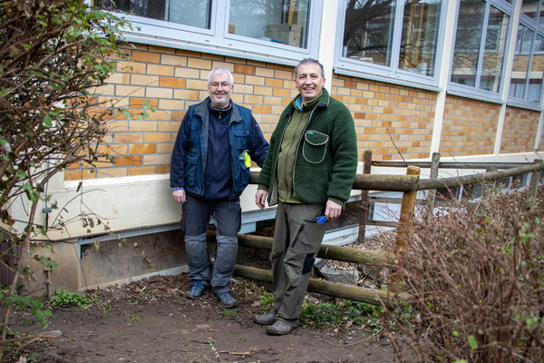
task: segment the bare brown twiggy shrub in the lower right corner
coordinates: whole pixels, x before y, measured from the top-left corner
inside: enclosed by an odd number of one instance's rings
[[[399,361],[544,361],[542,195],[489,193],[420,216],[397,255],[413,300],[384,315]]]

